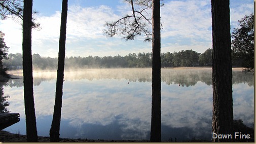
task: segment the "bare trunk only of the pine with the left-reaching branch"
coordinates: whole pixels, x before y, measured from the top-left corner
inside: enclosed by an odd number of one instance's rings
[[[160,0],[153,0],[152,26],[152,114],[150,141],[161,141]]]

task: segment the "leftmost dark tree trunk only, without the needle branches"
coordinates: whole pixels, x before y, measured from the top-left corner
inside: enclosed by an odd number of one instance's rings
[[[33,75],[31,54],[31,29],[32,29],[32,0],[24,0],[23,10],[23,83],[24,83],[24,106],[26,115],[27,141],[38,141],[36,130],[34,97],[33,97]]]

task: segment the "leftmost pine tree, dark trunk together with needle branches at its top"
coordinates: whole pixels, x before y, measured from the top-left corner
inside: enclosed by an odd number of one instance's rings
[[[32,15],[32,0],[24,0],[23,7],[20,0],[6,0],[0,2],[0,15],[2,20],[12,18],[22,24],[23,30],[23,83],[24,83],[24,106],[26,115],[27,141],[38,141],[36,130],[34,98],[33,98],[33,76],[31,56],[31,29],[40,28],[40,24],[34,23]]]

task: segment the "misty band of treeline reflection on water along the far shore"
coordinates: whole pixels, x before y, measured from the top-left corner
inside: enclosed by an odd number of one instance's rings
[[[21,72],[20,72],[21,73]],[[34,71],[33,85],[39,86],[43,81],[56,79],[56,71]],[[254,76],[251,73],[242,73],[239,70],[233,70],[232,84],[246,83],[249,86],[254,85]],[[76,81],[87,79],[89,81],[101,79],[125,79],[128,82],[152,82],[151,68],[112,68],[112,69],[87,69],[77,71],[65,71],[64,79],[66,81]],[[201,69],[161,69],[161,82],[167,85],[179,84],[182,87],[195,86],[197,82],[203,82],[206,85],[212,85],[211,68]],[[10,87],[23,87],[22,79],[13,79],[7,83]]]

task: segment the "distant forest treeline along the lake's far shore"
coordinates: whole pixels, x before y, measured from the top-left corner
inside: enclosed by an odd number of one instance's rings
[[[204,53],[193,50],[181,50],[179,52],[161,53],[162,67],[179,66],[211,66],[212,49],[207,49]],[[22,66],[22,54],[10,53],[8,59],[4,59],[4,66],[9,69],[17,69]],[[39,54],[32,55],[33,68],[35,69],[57,69],[57,58],[41,57]],[[240,66],[239,61],[233,62],[233,66]],[[129,53],[126,56],[87,56],[87,57],[66,57],[65,69],[69,68],[114,68],[114,67],[151,67],[151,53]]]

